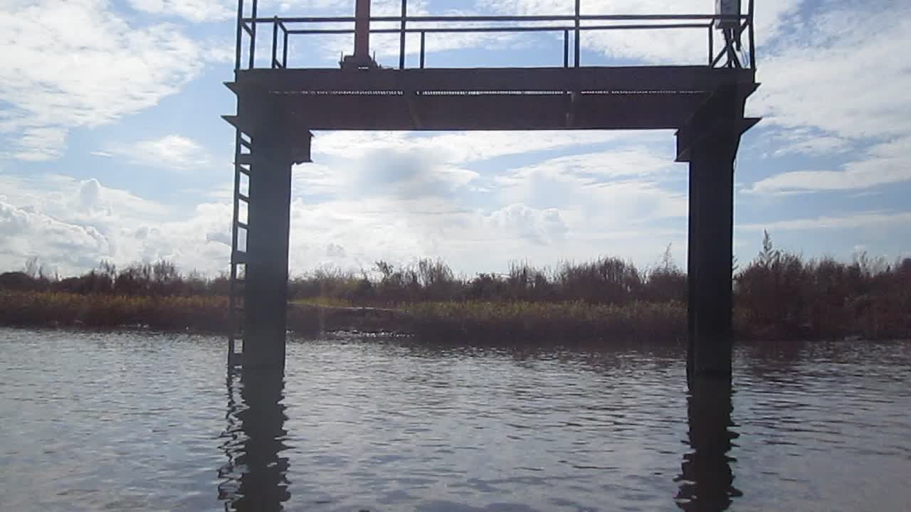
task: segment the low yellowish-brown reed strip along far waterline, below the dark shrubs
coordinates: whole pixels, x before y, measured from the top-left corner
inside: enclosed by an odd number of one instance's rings
[[[686,304],[631,302],[415,302],[397,307],[290,302],[287,330],[312,337],[413,337],[438,343],[484,344],[679,344],[686,339]],[[227,336],[228,300],[221,296],[115,296],[67,292],[0,292],[0,326],[61,329],[128,329]],[[872,327],[872,328],[871,328]],[[742,308],[734,312],[738,341],[828,341],[861,338],[901,340],[911,333],[889,332],[855,322],[847,328],[803,324],[751,324]]]

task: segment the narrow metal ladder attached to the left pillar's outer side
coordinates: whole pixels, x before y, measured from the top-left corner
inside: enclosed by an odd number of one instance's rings
[[[240,366],[243,353],[243,326],[245,323],[244,292],[247,274],[247,243],[249,218],[241,218],[241,206],[250,214],[250,173],[251,173],[251,138],[237,129],[234,137],[234,194],[233,218],[231,220],[230,239],[230,283],[228,295],[228,366]],[[247,189],[244,193],[243,177],[246,177]],[[241,235],[243,247],[241,248]],[[240,346],[238,341],[240,341]]]

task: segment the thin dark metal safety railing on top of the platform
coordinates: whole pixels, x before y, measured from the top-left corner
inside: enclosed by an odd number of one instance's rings
[[[288,67],[289,38],[295,35],[353,35],[354,16],[259,17],[258,0],[251,2],[251,13],[245,15],[244,1],[238,0],[236,70],[253,69],[257,64],[257,30],[271,29],[271,58],[267,67]],[[396,24],[389,28],[370,28],[370,34],[399,35],[398,68],[405,68],[406,39],[420,36],[419,67],[426,64],[428,35],[456,33],[557,33],[563,37],[563,67],[580,67],[583,33],[614,30],[692,29],[707,32],[708,67],[756,68],[753,27],[754,0],[747,1],[747,11],[740,15],[583,15],[581,1],[575,1],[574,15],[408,15],[407,0],[402,0],[402,14],[371,16],[371,25]],[[480,25],[479,25],[480,24]],[[523,25],[525,24],[525,25]],[[329,27],[327,27],[329,26]],[[721,36],[719,36],[719,34]],[[746,50],[742,38],[746,34]],[[245,36],[246,35],[246,36]],[[246,38],[246,40],[245,40]],[[720,41],[716,41],[720,40]],[[571,45],[570,45],[571,41]],[[246,46],[247,58],[243,59]],[[570,46],[572,58],[570,59]],[[720,48],[716,52],[716,47]],[[570,62],[571,60],[571,62]],[[260,66],[261,67],[261,66]]]

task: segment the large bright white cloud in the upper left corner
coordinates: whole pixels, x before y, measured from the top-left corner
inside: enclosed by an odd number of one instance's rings
[[[108,7],[45,0],[0,12],[0,101],[12,106],[0,133],[15,158],[54,159],[69,128],[154,106],[200,73],[205,56],[178,27],[137,26]]]

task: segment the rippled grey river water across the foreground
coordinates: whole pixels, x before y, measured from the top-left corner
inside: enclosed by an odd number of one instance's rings
[[[4,510],[911,510],[911,343],[679,349],[0,329]],[[731,411],[732,406],[732,412]]]

